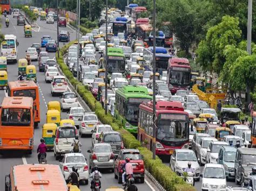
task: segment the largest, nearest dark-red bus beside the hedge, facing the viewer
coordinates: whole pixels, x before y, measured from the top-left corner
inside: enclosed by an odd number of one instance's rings
[[[176,148],[188,148],[189,118],[180,102],[156,103],[156,154],[171,155]],[[153,102],[139,105],[138,139],[152,151]]]

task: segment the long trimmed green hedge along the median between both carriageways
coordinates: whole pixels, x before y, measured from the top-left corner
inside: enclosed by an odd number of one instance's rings
[[[110,114],[105,115],[105,110],[102,108],[102,104],[98,102],[95,97],[91,94],[91,91],[83,86],[78,80],[76,80],[72,73],[69,71],[68,66],[63,61],[63,55],[68,50],[69,46],[73,42],[65,45],[59,51],[59,58],[56,54],[57,62],[62,69],[64,75],[71,82],[72,86],[76,88],[77,93],[83,98],[85,103],[90,107],[92,111],[95,111],[99,120],[103,124],[109,124],[113,130],[121,133],[123,142],[126,148],[138,148],[140,153],[143,155],[143,160],[147,171],[149,171],[154,178],[166,189],[174,191],[194,191],[196,188],[188,185],[182,178],[176,173],[172,172],[171,169],[163,164],[163,162],[157,157],[156,160],[152,159],[152,152],[147,148],[142,147],[140,142],[127,130],[122,129],[122,123],[117,119],[113,118]]]

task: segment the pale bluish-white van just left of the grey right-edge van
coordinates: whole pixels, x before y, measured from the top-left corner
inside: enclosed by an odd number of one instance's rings
[[[220,147],[218,163],[225,168],[226,178],[234,179],[234,164],[237,148],[223,145]]]

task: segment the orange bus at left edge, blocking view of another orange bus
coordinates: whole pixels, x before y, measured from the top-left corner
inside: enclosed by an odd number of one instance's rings
[[[0,109],[1,150],[33,149],[33,99],[32,97],[4,97]]]

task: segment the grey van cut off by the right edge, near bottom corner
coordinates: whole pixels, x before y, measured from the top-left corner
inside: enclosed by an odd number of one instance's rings
[[[256,149],[238,148],[235,155],[235,182],[237,184],[244,182],[247,176],[252,172],[255,166]]]

